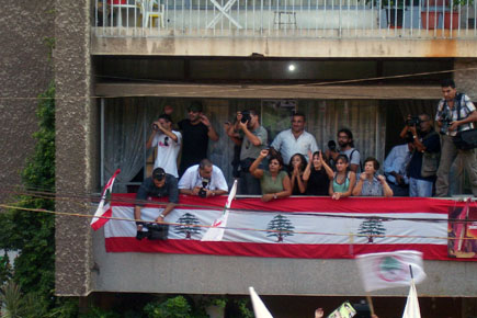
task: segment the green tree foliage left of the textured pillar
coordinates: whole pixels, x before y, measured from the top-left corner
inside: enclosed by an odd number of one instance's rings
[[[52,83],[39,95],[36,146],[22,172],[27,191],[12,208],[0,215],[0,248],[18,250],[13,280],[25,297],[34,297],[36,309],[32,317],[42,317],[56,304],[55,286],[55,217],[21,208],[55,209],[55,87]],[[39,192],[39,193],[38,193]],[[27,315],[29,316],[29,315]]]

